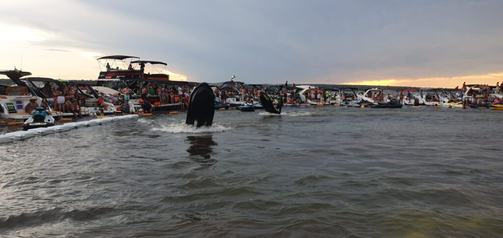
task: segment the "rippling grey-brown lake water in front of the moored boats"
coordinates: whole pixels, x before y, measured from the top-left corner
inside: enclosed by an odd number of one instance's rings
[[[503,234],[501,112],[185,116],[0,144],[0,235]]]

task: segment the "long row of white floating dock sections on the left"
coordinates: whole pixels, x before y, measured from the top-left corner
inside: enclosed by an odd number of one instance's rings
[[[130,114],[130,115],[124,115],[124,116],[105,117],[105,118],[101,118],[101,119],[92,119],[89,121],[69,122],[69,123],[65,123],[65,124],[61,124],[61,125],[33,128],[33,129],[29,129],[27,131],[15,131],[15,132],[7,133],[5,135],[0,135],[0,143],[12,142],[14,140],[24,140],[24,139],[34,137],[35,135],[47,135],[47,134],[54,133],[54,132],[68,131],[73,128],[101,125],[102,123],[114,122],[114,121],[119,121],[119,120],[123,120],[123,119],[130,119],[130,118],[134,118],[134,117],[138,117],[138,115],[137,114]]]

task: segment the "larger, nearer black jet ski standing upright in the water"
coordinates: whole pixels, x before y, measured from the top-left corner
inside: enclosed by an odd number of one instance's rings
[[[190,94],[189,107],[187,109],[186,124],[197,127],[211,126],[215,114],[215,95],[207,83],[198,85]]]

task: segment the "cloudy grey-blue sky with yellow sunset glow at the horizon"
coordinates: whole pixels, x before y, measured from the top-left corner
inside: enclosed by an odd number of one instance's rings
[[[0,69],[93,80],[97,58],[173,80],[454,88],[503,80],[503,1],[2,1]]]

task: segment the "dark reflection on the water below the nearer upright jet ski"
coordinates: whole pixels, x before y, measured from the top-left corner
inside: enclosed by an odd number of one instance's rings
[[[200,163],[203,168],[210,167],[217,162],[211,158],[212,147],[217,145],[212,135],[187,136],[187,141],[190,144],[187,152],[191,155],[192,160]]]

